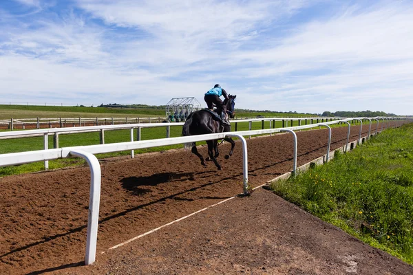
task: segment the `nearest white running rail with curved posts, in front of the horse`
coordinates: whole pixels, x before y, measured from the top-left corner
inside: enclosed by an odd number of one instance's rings
[[[151,148],[157,146],[168,146],[173,144],[183,144],[189,142],[200,142],[204,140],[217,140],[223,139],[224,137],[237,137],[242,142],[242,154],[243,154],[243,183],[244,183],[244,194],[246,194],[248,190],[248,150],[247,144],[244,136],[247,135],[262,135],[262,134],[271,134],[271,133],[279,133],[279,132],[290,132],[294,135],[294,162],[293,162],[293,173],[296,172],[297,169],[297,138],[294,131],[298,131],[301,129],[310,129],[317,126],[328,126],[329,135],[328,135],[328,151],[326,154],[325,160],[328,161],[329,157],[328,154],[330,153],[330,142],[331,142],[331,128],[330,125],[337,124],[337,123],[347,123],[350,129],[349,120],[353,120],[352,118],[348,118],[345,120],[337,120],[332,122],[325,122],[325,123],[318,123],[318,124],[310,124],[304,126],[293,126],[288,128],[278,128],[278,129],[262,129],[262,130],[255,130],[255,131],[239,131],[239,132],[231,132],[231,133],[215,133],[215,134],[208,134],[208,135],[195,135],[189,137],[171,137],[171,138],[163,138],[157,140],[145,140],[145,141],[136,141],[136,142],[120,142],[120,143],[113,143],[113,144],[98,144],[98,145],[89,145],[89,146],[74,146],[74,147],[67,147],[67,148],[54,148],[50,150],[39,150],[39,151],[30,151],[30,152],[22,152],[22,153],[8,153],[0,155],[0,166],[9,166],[9,165],[16,165],[16,164],[25,164],[30,162],[41,162],[47,161],[50,159],[60,159],[66,157],[83,157],[86,159],[87,164],[91,169],[91,184],[90,184],[90,195],[89,195],[89,214],[88,214],[88,222],[87,222],[87,243],[86,243],[86,252],[85,252],[85,265],[89,265],[93,263],[96,259],[96,242],[97,242],[97,232],[98,232],[98,212],[99,212],[99,203],[100,203],[100,180],[101,180],[101,173],[100,173],[100,164],[98,159],[95,157],[95,154],[98,153],[110,153],[110,152],[117,152],[117,151],[129,151],[129,150],[136,150],[140,148]],[[376,133],[378,131],[378,122],[377,119],[377,127]],[[384,121],[384,118],[383,118]],[[370,120],[370,126],[371,126]],[[398,121],[393,126],[400,126],[402,123],[405,122],[412,122],[412,119]],[[389,124],[386,126],[390,126]],[[361,124],[361,128],[363,125]],[[382,124],[383,127],[383,124]],[[370,127],[371,128],[371,127]],[[382,128],[383,129],[383,128]],[[348,131],[349,138],[350,131]],[[370,131],[368,133],[367,138],[370,137]],[[359,135],[358,142],[361,141],[361,135]],[[347,144],[346,144],[346,151],[347,151]]]

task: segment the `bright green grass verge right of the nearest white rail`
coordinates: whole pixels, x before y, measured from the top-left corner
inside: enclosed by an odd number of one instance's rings
[[[413,263],[413,125],[387,129],[271,188],[324,221]]]

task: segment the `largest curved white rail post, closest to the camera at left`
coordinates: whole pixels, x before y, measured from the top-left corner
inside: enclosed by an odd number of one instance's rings
[[[70,155],[86,159],[90,167],[90,195],[89,214],[87,218],[86,255],[85,265],[90,265],[96,260],[96,244],[98,241],[98,221],[100,203],[101,171],[98,159],[84,151],[71,151]]]

